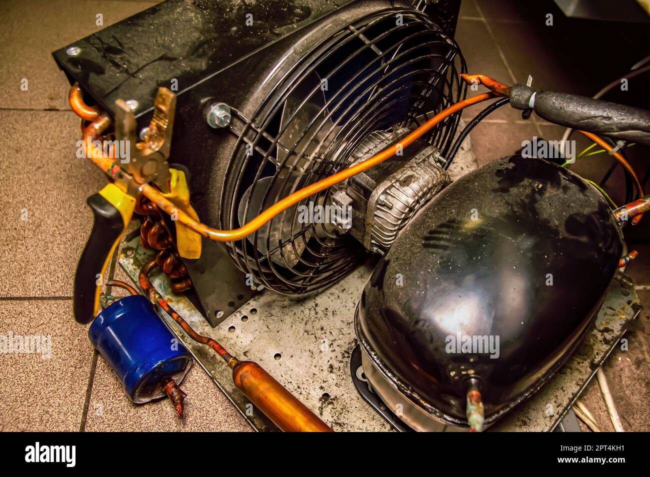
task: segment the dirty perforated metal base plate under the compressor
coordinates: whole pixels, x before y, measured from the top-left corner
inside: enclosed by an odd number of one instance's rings
[[[120,266],[138,283],[140,266],[151,256],[136,237],[124,244]],[[159,270],[151,274],[151,281],[198,333],[213,337],[240,359],[257,361],[333,430],[378,432],[393,428],[365,402],[350,378],[350,358],[357,344],[354,309],[373,266],[372,261],[364,264],[314,296],[297,299],[263,292],[216,328],[211,328],[190,300],[171,292],[168,277]],[[219,283],[214,287],[218,289]],[[617,273],[577,352],[547,385],[490,430],[548,432],[555,428],[640,309],[632,281]],[[277,430],[257,409],[251,411],[248,400],[235,389],[230,369],[214,352],[189,339],[171,318],[159,313],[253,428]]]

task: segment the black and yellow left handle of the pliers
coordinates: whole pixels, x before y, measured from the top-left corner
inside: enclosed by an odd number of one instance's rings
[[[86,203],[94,214],[94,223],[77,265],[73,294],[75,320],[83,324],[95,318],[101,288],[98,275],[103,277],[110,254],[124,231],[120,211],[101,194],[90,196]]]

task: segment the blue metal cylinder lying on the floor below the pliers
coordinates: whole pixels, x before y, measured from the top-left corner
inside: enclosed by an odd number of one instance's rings
[[[164,396],[164,385],[180,384],[192,355],[142,295],[120,298],[88,329],[88,339],[118,376],[135,403]]]

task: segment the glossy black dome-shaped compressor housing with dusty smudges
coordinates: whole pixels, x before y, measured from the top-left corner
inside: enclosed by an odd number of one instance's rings
[[[400,232],[363,291],[357,337],[394,387],[448,424],[467,425],[474,378],[489,424],[575,348],[622,250],[595,188],[551,162],[499,159]]]

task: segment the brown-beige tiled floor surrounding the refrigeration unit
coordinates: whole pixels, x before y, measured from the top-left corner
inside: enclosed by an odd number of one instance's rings
[[[0,260],[0,275],[5,277],[0,290],[0,335],[51,335],[52,339],[49,358],[0,354],[0,385],[5,389],[0,397],[0,430],[250,430],[198,366],[183,386],[189,394],[185,420],[173,419],[166,400],[131,404],[117,378],[93,352],[86,329],[72,318],[72,275],[92,222],[85,198],[104,179],[87,162],[75,162],[79,121],[66,104],[68,82],[50,53],[100,29],[97,14],[109,25],[153,3],[0,0],[0,84],[4,86],[0,88],[0,188],[4,192],[0,240],[5,245]],[[557,30],[545,26],[548,12],[554,14]],[[647,35],[639,36],[634,25],[615,43],[607,35],[594,38],[591,24],[573,22],[568,32],[566,24],[552,1],[464,0],[456,39],[471,72],[505,83],[523,83],[531,73],[535,86],[588,96],[617,77],[621,65],[629,68],[650,51]],[[590,38],[586,51],[581,50],[584,38]],[[607,62],[605,71],[602,58]],[[29,85],[26,91],[20,88],[23,79]],[[467,110],[466,118],[478,110]],[[521,148],[521,142],[532,136],[558,139],[563,132],[541,120],[523,121],[518,112],[504,107],[474,129],[471,141],[482,164]],[[642,160],[632,157],[645,173]],[[595,157],[575,169],[587,177],[600,177],[607,166],[608,158]],[[622,201],[621,185],[619,175],[608,183],[615,200]],[[649,230],[650,224],[642,224],[629,237],[630,246],[641,253],[629,273],[642,302],[648,303]],[[605,367],[627,430],[650,430],[648,331],[649,316],[642,311],[630,330],[629,350],[615,352]],[[582,398],[597,422],[611,428],[597,385],[592,383]]]

